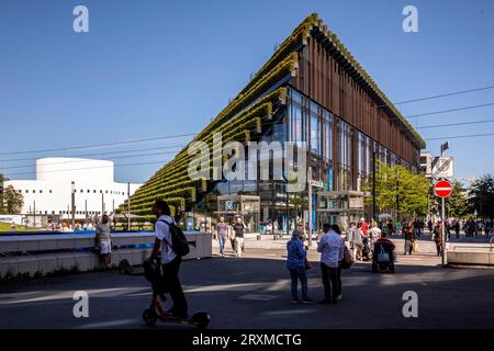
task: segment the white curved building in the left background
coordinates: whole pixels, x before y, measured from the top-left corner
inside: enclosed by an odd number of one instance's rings
[[[36,160],[36,180],[5,181],[24,196],[22,214],[71,218],[71,189],[76,194],[76,218],[112,213],[127,199],[127,183],[113,179],[113,162],[83,158]],[[130,195],[142,184],[130,184]]]

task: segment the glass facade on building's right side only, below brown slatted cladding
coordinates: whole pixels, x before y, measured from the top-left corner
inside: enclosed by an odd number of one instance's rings
[[[324,183],[324,191],[362,192],[363,185],[373,171],[373,160],[381,160],[386,165],[403,165],[413,169],[411,165],[391,152],[384,146],[373,140],[361,131],[345,122],[330,111],[318,105],[295,89],[289,89],[288,100],[289,140],[307,140],[311,157],[307,166],[312,167],[313,180]],[[296,133],[293,133],[296,131]],[[317,192],[317,189],[313,190]],[[306,192],[301,194],[306,197]],[[328,196],[329,199],[330,196]],[[315,206],[338,206],[340,200],[314,200]],[[370,216],[367,208],[366,216]],[[296,213],[297,216],[305,216]],[[316,216],[321,216],[317,213]],[[335,215],[334,217],[337,217]],[[324,218],[326,220],[328,218]],[[329,218],[330,222],[338,222]],[[335,220],[333,220],[335,219]],[[316,222],[321,222],[316,219]],[[315,229],[315,228],[314,228]]]

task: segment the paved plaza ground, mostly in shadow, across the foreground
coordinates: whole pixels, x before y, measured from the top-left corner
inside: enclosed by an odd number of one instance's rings
[[[371,272],[357,262],[343,273],[337,305],[292,305],[284,240],[246,240],[245,258],[213,251],[212,259],[187,261],[181,280],[190,312],[207,310],[210,328],[493,328],[494,271],[440,267],[434,242],[403,256],[397,246],[395,274]],[[323,297],[318,254],[310,251],[310,295]],[[72,294],[89,294],[89,318],[75,318]],[[403,293],[418,294],[418,318],[405,318]],[[0,287],[0,328],[147,328],[141,314],[150,299],[142,275],[81,273]],[[159,324],[155,328],[188,328]]]

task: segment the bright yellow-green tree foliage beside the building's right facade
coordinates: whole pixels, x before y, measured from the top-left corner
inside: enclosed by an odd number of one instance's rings
[[[370,192],[366,204],[372,205],[372,174],[364,186]],[[375,162],[375,203],[379,212],[397,210],[402,215],[425,215],[427,213],[428,180],[415,174],[401,165],[391,167],[380,160]]]

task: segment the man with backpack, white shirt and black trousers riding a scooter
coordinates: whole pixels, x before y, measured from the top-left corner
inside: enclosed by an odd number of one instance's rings
[[[164,291],[170,293],[171,299],[173,301],[173,306],[168,313],[177,318],[187,318],[188,305],[179,280],[179,270],[182,258],[173,251],[171,246],[172,237],[170,227],[177,224],[171,217],[170,207],[166,201],[157,200],[154,203],[151,211],[156,216],[157,222],[155,224],[155,245],[149,260],[158,258],[159,251],[161,251],[160,261]]]

